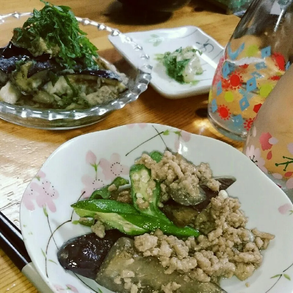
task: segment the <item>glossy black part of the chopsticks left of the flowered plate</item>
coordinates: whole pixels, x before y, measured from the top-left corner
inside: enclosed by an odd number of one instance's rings
[[[0,247],[20,270],[31,262],[20,230],[2,212],[0,212]]]

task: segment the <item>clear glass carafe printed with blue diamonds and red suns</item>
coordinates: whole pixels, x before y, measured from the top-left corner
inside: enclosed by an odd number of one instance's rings
[[[208,117],[223,135],[245,140],[271,90],[293,62],[293,0],[254,0],[220,59]]]

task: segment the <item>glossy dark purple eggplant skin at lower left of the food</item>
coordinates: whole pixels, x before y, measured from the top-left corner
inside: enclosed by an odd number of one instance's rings
[[[118,230],[107,230],[104,238],[95,233],[72,238],[59,248],[58,261],[64,269],[94,280],[110,248],[124,236]]]

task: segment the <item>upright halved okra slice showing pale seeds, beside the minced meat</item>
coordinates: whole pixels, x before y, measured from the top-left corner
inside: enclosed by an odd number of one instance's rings
[[[158,208],[161,196],[160,183],[151,178],[151,172],[145,165],[133,165],[130,168],[131,196],[137,211],[170,222]]]

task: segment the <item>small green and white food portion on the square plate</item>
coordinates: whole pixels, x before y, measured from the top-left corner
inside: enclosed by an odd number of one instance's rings
[[[184,84],[197,84],[197,75],[203,73],[198,55],[202,52],[193,47],[186,47],[175,50],[174,52],[165,52],[156,54],[159,60],[166,68],[166,73],[175,81]]]

